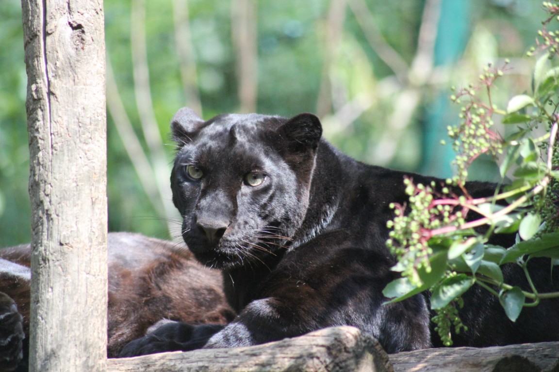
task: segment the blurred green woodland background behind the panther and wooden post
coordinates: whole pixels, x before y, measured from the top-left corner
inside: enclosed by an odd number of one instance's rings
[[[450,87],[511,60],[494,103],[529,88],[536,0],[106,0],[111,231],[179,235],[169,120],[189,106],[317,113],[358,160],[452,172]],[[21,4],[0,4],[0,247],[30,239]],[[492,161],[473,176],[492,178]]]

